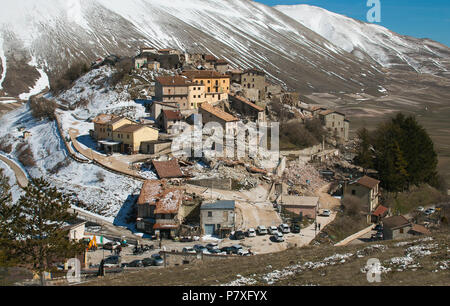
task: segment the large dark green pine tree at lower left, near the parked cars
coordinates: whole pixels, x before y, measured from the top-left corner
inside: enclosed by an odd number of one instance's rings
[[[76,215],[68,212],[70,202],[44,179],[32,179],[25,194],[15,205],[10,222],[14,224],[15,254],[20,261],[31,264],[41,276],[49,271],[55,260],[74,257],[82,252],[82,245],[68,239],[63,230],[66,221]]]

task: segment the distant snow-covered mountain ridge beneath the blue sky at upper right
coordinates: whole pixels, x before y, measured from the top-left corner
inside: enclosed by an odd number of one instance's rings
[[[373,59],[389,68],[450,74],[450,48],[435,41],[399,35],[320,7],[300,4],[275,8],[361,59]]]

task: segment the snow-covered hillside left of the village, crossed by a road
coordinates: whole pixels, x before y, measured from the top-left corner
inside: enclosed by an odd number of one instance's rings
[[[103,77],[105,73],[110,73],[109,68],[91,71],[77,81],[72,89],[58,97],[67,101],[74,101],[76,98],[89,101],[86,107],[61,113],[65,132],[69,127],[73,127],[77,128],[81,135],[88,135],[93,126],[83,119],[101,112],[124,110],[133,118],[145,116],[143,106],[130,100],[126,94],[109,90],[104,83],[90,84],[90,81],[99,75]],[[83,93],[79,92],[81,88]],[[32,136],[24,140],[22,132],[19,131],[21,127],[31,132]],[[11,156],[16,159],[20,154],[17,152],[17,145],[28,144],[36,161],[35,166],[26,167],[32,177],[44,177],[64,193],[83,202],[86,205],[83,208],[86,210],[111,220],[116,218],[119,212],[126,215],[126,212],[123,212],[124,204],[139,194],[142,186],[140,181],[111,173],[94,164],[77,163],[70,159],[58,134],[56,122],[37,121],[32,117],[28,106],[22,106],[2,118],[0,139],[13,144]],[[149,177],[152,177],[150,173]],[[128,204],[127,207],[129,208]]]

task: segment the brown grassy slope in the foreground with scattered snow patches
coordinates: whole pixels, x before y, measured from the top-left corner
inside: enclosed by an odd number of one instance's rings
[[[144,286],[177,286],[177,285],[220,285],[234,281],[242,275],[255,280],[254,285],[268,285],[264,276],[275,270],[283,270],[295,264],[306,262],[326,262],[324,258],[336,253],[351,253],[352,256],[334,265],[328,265],[317,269],[304,269],[279,279],[273,285],[371,285],[366,279],[366,274],[361,272],[369,258],[378,258],[385,267],[391,267],[392,272],[382,275],[379,285],[449,285],[450,271],[439,269],[437,263],[446,261],[447,267],[449,239],[448,232],[435,234],[432,241],[417,241],[418,238],[409,239],[409,245],[395,246],[398,241],[383,242],[382,248],[370,243],[358,246],[333,247],[316,246],[293,248],[280,253],[257,255],[253,257],[236,257],[217,262],[205,263],[195,266],[182,266],[167,268],[165,270],[149,269],[138,272],[127,272],[122,275],[107,276],[87,283],[87,285],[144,285]],[[437,247],[433,248],[436,244]],[[367,248],[374,246],[373,249]],[[423,257],[414,257],[418,268],[402,269],[389,265],[386,260],[394,257],[405,256],[405,250],[413,245],[431,247],[431,254]],[[386,248],[387,247],[387,248]],[[359,251],[358,257],[355,253]],[[328,260],[329,261],[329,260]],[[412,269],[416,269],[413,271]],[[289,269],[287,269],[289,270]],[[436,271],[436,272],[434,272]],[[188,277],[187,277],[188,276]],[[274,280],[275,278],[269,277]],[[86,285],[86,284],[84,284]]]

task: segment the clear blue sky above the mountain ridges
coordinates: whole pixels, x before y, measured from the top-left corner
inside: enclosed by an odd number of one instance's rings
[[[366,20],[367,0],[255,0],[266,5],[309,4]],[[431,38],[450,46],[450,0],[380,0],[380,25],[403,35]]]

